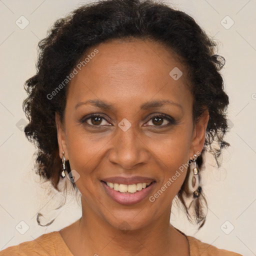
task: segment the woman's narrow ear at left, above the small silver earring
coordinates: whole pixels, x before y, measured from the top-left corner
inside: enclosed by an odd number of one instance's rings
[[[57,128],[59,157],[60,157],[60,159],[62,158],[63,151],[64,151],[65,160],[68,160],[65,130],[64,130],[63,124],[60,121],[60,116],[57,113],[55,113],[55,123],[56,123],[56,128]]]

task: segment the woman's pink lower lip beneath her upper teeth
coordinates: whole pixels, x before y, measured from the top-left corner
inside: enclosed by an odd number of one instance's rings
[[[142,201],[144,198],[146,198],[147,195],[152,190],[155,182],[153,181],[149,186],[139,191],[136,191],[135,193],[128,193],[128,192],[121,193],[109,187],[105,182],[101,181],[101,183],[106,193],[108,194],[108,196],[110,196],[114,201],[124,205],[131,205],[131,204],[138,203]]]

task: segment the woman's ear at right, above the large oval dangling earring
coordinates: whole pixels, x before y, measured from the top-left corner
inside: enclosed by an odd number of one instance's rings
[[[192,134],[192,141],[190,152],[191,156],[196,152],[201,152],[204,141],[205,141],[205,131],[207,128],[209,120],[209,112],[208,110],[204,110],[197,122],[194,124],[193,134]]]

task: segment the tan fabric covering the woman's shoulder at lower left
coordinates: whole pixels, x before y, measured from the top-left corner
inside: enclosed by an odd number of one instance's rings
[[[22,242],[0,251],[0,256],[72,256],[58,231],[42,234],[34,240]]]

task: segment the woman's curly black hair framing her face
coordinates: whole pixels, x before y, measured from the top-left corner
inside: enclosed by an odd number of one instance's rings
[[[229,145],[223,140],[227,129],[228,96],[219,73],[224,58],[214,53],[216,43],[192,17],[163,3],[101,0],[82,5],[55,21],[47,36],[38,43],[36,74],[24,85],[28,97],[23,102],[23,110],[29,120],[24,132],[38,149],[36,172],[56,189],[62,165],[55,113],[63,119],[68,83],[54,93],[54,100],[49,95],[91,47],[107,40],[125,38],[154,40],[179,56],[180,62],[187,67],[186,77],[193,95],[193,120],[196,122],[205,109],[209,112],[203,152],[210,151],[217,161],[221,149]],[[202,155],[197,158],[199,167]],[[190,219],[184,200],[185,182],[177,197]],[[76,188],[74,183],[73,187]],[[201,200],[206,203],[202,193],[194,205],[195,220],[200,226],[206,216]]]

